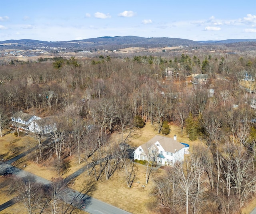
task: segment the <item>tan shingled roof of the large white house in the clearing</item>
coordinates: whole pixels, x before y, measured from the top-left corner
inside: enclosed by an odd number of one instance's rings
[[[170,137],[164,137],[160,135],[154,136],[152,139],[150,139],[148,142],[141,145],[144,152],[148,151],[148,148],[150,148],[152,145],[156,148],[156,151],[158,151],[157,146],[155,145],[156,142],[159,142],[160,145],[163,147],[164,151],[168,151],[171,153],[176,153],[180,149],[183,149],[185,145],[182,143],[170,138]],[[176,149],[176,151],[175,151]]]

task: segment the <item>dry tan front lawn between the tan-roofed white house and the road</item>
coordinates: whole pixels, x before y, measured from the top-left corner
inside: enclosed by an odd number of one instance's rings
[[[138,168],[139,172],[132,188],[126,186],[124,172],[118,171],[108,181],[106,181],[104,176],[102,180],[97,181],[96,190],[90,195],[133,214],[152,214],[153,212],[147,210],[147,203],[150,200],[150,192],[153,188],[152,176],[148,185],[146,185],[146,166],[138,165]],[[93,181],[94,178],[88,176],[87,172],[84,172],[76,178],[76,183],[72,188],[80,190],[81,186],[83,184],[86,185],[88,180]],[[142,185],[145,185],[145,188]]]

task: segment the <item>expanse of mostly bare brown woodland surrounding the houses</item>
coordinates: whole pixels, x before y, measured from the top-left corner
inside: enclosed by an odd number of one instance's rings
[[[194,84],[200,73],[208,75],[207,81]],[[14,60],[0,66],[0,134],[17,111],[50,116],[56,123],[50,134],[54,143],[41,145],[41,136],[34,134],[40,149],[32,161],[54,158],[61,177],[65,159],[75,156],[79,163],[92,163],[95,181],[125,169],[132,188],[136,165],[120,143],[129,144],[144,123],[157,124],[164,134],[166,122],[173,122],[202,145],[184,163],[154,177],[149,208],[236,214],[256,193],[255,79],[255,56],[242,53]],[[122,141],[110,141],[116,132]]]

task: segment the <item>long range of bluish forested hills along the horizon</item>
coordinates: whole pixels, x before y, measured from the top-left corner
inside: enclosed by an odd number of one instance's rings
[[[63,47],[67,49],[90,49],[90,48],[105,48],[105,49],[120,49],[126,47],[175,47],[180,45],[198,46],[206,44],[230,44],[240,42],[256,42],[256,39],[228,39],[223,41],[193,41],[189,39],[168,38],[168,37],[137,37],[137,36],[104,36],[98,38],[72,40],[72,41],[39,41],[32,39],[21,40],[6,40],[0,41],[0,49],[31,49],[34,47]]]

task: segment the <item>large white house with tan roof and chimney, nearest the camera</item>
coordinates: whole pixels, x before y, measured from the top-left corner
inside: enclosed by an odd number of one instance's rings
[[[172,165],[176,161],[184,160],[184,153],[188,154],[189,145],[180,143],[170,137],[156,135],[148,142],[135,149],[134,160],[157,161],[160,165]]]

